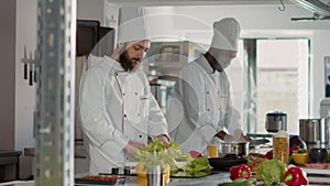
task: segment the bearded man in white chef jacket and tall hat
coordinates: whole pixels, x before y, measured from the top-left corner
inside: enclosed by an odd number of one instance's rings
[[[90,172],[123,167],[148,136],[168,145],[166,119],[139,68],[151,44],[147,28],[143,8],[121,8],[114,53],[82,76],[79,111]]]

